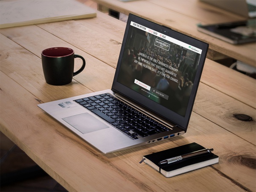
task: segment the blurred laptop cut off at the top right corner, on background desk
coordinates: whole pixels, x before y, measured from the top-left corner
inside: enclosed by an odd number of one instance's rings
[[[256,0],[201,0],[213,6],[241,15],[243,17],[256,17]]]

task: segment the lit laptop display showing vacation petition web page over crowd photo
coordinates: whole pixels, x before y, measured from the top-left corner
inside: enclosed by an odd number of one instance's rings
[[[131,21],[117,81],[185,116],[201,49]]]

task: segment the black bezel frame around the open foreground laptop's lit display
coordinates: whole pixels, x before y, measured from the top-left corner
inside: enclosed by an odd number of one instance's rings
[[[130,25],[131,21],[133,21],[135,23],[139,23],[140,25],[143,25],[150,29],[153,29],[154,31],[161,32],[164,35],[170,36],[172,38],[176,38],[176,39],[183,41],[193,47],[202,49],[201,57],[200,57],[199,64],[198,64],[198,70],[195,75],[195,81],[194,81],[194,85],[192,87],[192,92],[191,92],[191,96],[189,98],[189,103],[187,106],[185,116],[181,116],[181,115],[171,111],[170,109],[163,107],[159,103],[154,102],[151,99],[145,98],[145,96],[141,95],[140,93],[137,93],[136,91],[132,90],[129,87],[126,87],[125,85],[123,85],[117,81],[121,62],[122,62],[122,55],[124,54],[124,51],[125,51],[126,39],[128,36],[129,28],[131,27],[131,25]],[[201,73],[202,73],[204,62],[206,59],[208,47],[209,47],[209,44],[207,44],[205,42],[199,41],[195,38],[192,38],[192,37],[184,35],[180,32],[174,31],[166,26],[162,26],[157,23],[153,23],[149,20],[145,20],[136,15],[129,14],[126,29],[125,29],[125,34],[124,34],[124,38],[123,38],[123,42],[122,42],[122,47],[120,50],[120,55],[119,55],[119,59],[118,59],[117,67],[116,67],[116,73],[115,73],[115,76],[113,79],[112,90],[114,92],[122,94],[123,96],[128,97],[129,99],[133,100],[134,102],[138,103],[139,105],[142,105],[143,107],[148,108],[148,110],[153,111],[154,113],[157,113],[158,115],[162,116],[164,119],[167,119],[167,120],[175,123],[179,128],[183,129],[186,132],[186,129],[187,129],[188,123],[189,123],[189,119],[191,116],[193,104],[195,101],[195,95],[198,90],[198,85],[199,85],[198,81],[200,81],[200,78],[201,78]]]

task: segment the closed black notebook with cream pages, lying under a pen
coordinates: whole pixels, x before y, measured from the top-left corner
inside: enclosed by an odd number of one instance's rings
[[[190,143],[187,145],[170,148],[164,151],[159,151],[153,154],[148,154],[145,155],[143,158],[145,159],[144,162],[146,164],[163,174],[165,177],[173,177],[175,175],[179,175],[185,172],[218,163],[218,156],[210,152],[200,154],[194,157],[184,158],[182,160],[166,165],[160,166],[158,164],[162,160],[191,153],[194,151],[199,151],[201,149],[205,148],[201,145],[198,145],[197,143]]]

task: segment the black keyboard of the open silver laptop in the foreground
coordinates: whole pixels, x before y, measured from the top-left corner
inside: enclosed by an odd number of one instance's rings
[[[116,99],[110,93],[77,99],[75,102],[136,140],[170,129]]]

